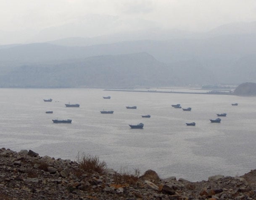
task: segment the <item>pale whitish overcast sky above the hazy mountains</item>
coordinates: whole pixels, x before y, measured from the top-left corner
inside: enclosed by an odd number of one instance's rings
[[[111,21],[109,29],[116,26],[132,30],[145,24],[162,29],[207,31],[225,23],[256,21],[256,0],[1,0],[0,3],[2,32],[32,34],[66,23],[106,26]],[[100,35],[97,28],[90,36],[93,34]]]

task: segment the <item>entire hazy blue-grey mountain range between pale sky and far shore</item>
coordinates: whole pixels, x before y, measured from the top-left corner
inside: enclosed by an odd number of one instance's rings
[[[234,32],[236,27],[237,33]],[[3,45],[0,46],[0,87],[238,85],[256,82],[256,22],[224,25],[207,33],[181,31],[180,37],[177,36],[179,31],[171,32],[173,38],[166,34],[161,40],[128,41],[125,34],[120,34],[117,40],[124,36],[123,41],[114,42],[113,34],[111,37],[73,37],[49,43]],[[154,38],[163,34],[153,29],[150,33],[155,34]],[[108,41],[109,38],[112,39]],[[96,72],[93,66],[98,66],[100,71]],[[78,78],[73,80],[68,73]],[[82,81],[82,74],[87,81]],[[31,76],[37,78],[33,81]],[[48,83],[43,84],[43,80]]]

